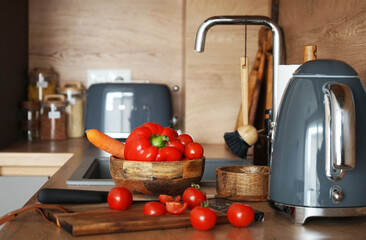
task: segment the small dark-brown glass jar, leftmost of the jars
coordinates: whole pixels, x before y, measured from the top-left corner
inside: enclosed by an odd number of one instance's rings
[[[34,101],[22,102],[22,119],[21,130],[22,135],[28,141],[39,139],[39,103]]]

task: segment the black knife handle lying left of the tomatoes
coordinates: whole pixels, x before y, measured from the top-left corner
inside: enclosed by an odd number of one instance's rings
[[[108,192],[43,188],[37,199],[43,204],[88,204],[107,202]]]

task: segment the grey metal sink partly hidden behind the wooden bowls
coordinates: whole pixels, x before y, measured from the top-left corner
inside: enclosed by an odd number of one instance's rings
[[[232,165],[252,165],[252,160],[206,159],[201,185],[216,184],[216,168]],[[86,158],[66,181],[68,185],[114,185],[109,173],[109,157]]]

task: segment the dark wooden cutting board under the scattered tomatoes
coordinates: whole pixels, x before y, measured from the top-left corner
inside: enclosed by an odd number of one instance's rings
[[[183,214],[144,215],[144,203],[134,203],[127,210],[113,210],[108,204],[64,206],[70,213],[48,211],[47,216],[73,236],[190,227],[187,209]],[[224,212],[215,211],[217,224],[228,223]]]

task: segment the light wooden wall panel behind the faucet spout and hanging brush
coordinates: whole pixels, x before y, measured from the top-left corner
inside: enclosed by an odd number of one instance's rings
[[[193,50],[196,31],[218,15],[266,15],[267,0],[187,0],[185,61],[185,129],[196,141],[224,143],[235,129],[240,108],[240,57],[244,55],[244,26],[214,26],[203,53]],[[258,49],[259,26],[248,26],[250,66]]]

